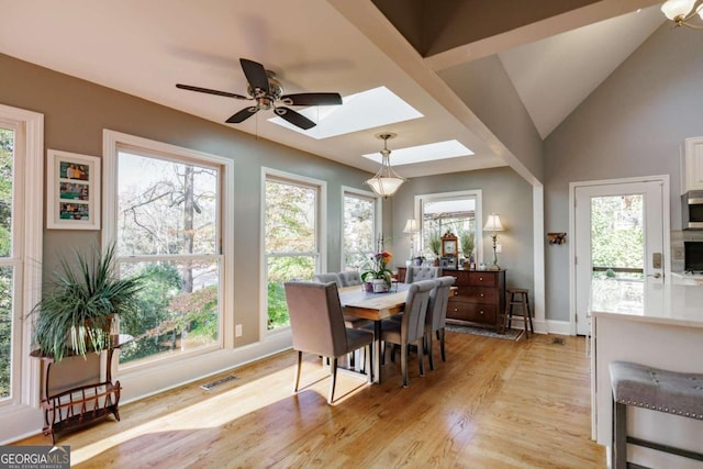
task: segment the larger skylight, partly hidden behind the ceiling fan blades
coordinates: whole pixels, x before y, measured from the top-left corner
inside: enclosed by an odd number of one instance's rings
[[[314,105],[295,109],[305,118],[317,123],[308,131],[289,124],[278,116],[271,118],[269,121],[309,137],[323,139],[423,116],[386,87],[349,94],[343,97],[342,101],[344,103],[342,105]]]

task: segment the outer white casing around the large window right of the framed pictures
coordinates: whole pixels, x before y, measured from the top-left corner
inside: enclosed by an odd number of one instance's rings
[[[112,175],[113,177],[103,178],[103,205],[102,205],[102,245],[109,246],[115,241],[116,234],[116,214],[118,214],[118,147],[133,146],[147,148],[152,152],[164,154],[177,154],[186,158],[192,158],[194,161],[201,160],[209,164],[221,166],[223,175],[221,177],[221,206],[220,210],[220,228],[221,248],[217,254],[222,255],[222,278],[220,280],[220,301],[221,301],[221,321],[220,321],[220,342],[223,348],[234,347],[234,216],[232,210],[223,210],[222,208],[234,206],[234,161],[221,156],[185,148],[163,142],[152,141],[111,130],[103,130],[102,139],[103,152],[103,175]],[[198,354],[193,350],[192,354]],[[190,354],[187,354],[190,355]],[[183,356],[175,357],[174,360],[164,359],[149,364],[145,360],[143,366],[133,366],[134,368],[143,367],[163,367],[172,365],[175,361],[182,360]]]

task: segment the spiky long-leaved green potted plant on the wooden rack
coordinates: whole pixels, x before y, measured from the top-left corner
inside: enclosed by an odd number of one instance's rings
[[[75,265],[59,259],[59,270],[32,309],[33,343],[40,354],[59,361],[67,355],[99,353],[112,346],[115,316],[126,324],[138,321],[137,293],[142,277],[120,278],[114,245],[89,255],[76,250]]]

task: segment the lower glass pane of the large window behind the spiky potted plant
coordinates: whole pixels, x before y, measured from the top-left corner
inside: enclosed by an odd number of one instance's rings
[[[138,324],[120,324],[134,337],[121,348],[120,362],[219,343],[219,260],[123,263],[121,271],[146,281]]]

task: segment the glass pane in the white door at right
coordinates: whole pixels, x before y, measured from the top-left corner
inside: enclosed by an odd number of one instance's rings
[[[591,258],[595,278],[643,280],[644,196],[591,199]]]

